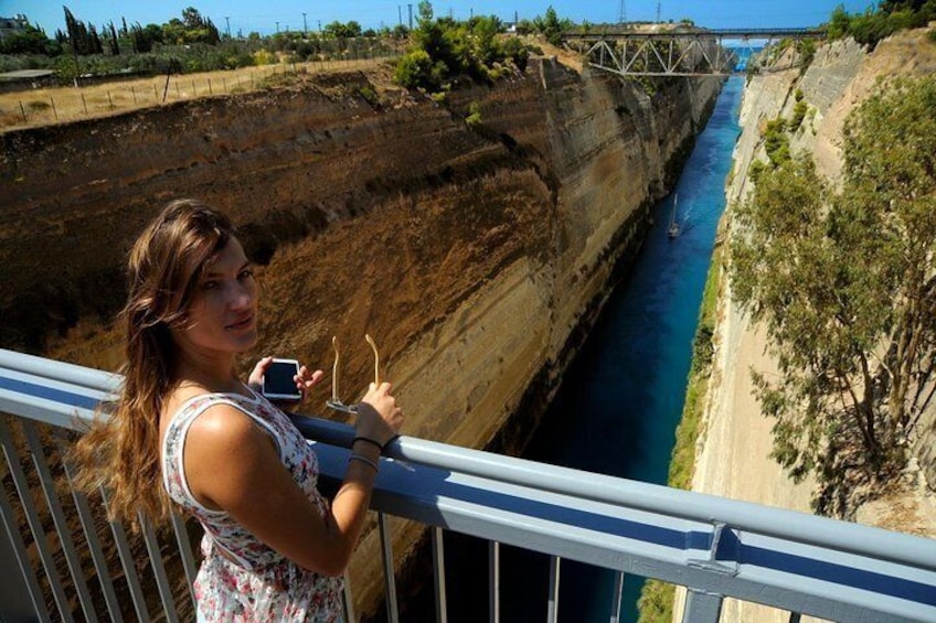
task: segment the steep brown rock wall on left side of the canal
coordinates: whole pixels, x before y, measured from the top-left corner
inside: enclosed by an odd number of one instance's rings
[[[373,375],[369,333],[407,434],[521,448],[720,83],[649,97],[543,58],[440,106],[372,77],[0,137],[2,345],[114,367],[124,253],[167,200],[195,196],[234,217],[263,265],[263,340],[245,365],[277,354],[330,369],[336,335],[352,400]],[[418,528],[393,531],[402,557]],[[352,568],[365,612],[381,591],[374,541]]]

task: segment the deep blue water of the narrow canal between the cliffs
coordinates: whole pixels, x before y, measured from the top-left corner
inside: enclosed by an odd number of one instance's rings
[[[724,85],[674,192],[655,207],[656,224],[631,272],[611,294],[563,379],[526,458],[666,484],[699,307],[724,211],[725,178],[741,131],[743,88],[743,77]],[[673,203],[680,234],[670,238]],[[483,541],[454,535],[447,537],[447,550],[449,540],[459,552],[458,567],[471,557],[477,560],[468,568],[486,568]],[[501,548],[501,621],[545,620],[546,563],[545,556]],[[449,620],[487,620],[486,593],[472,590],[472,599],[466,586],[483,583],[486,589],[483,574],[466,582],[453,567],[448,566],[448,587],[455,592],[450,603],[460,605]],[[563,560],[561,579],[561,621],[609,620],[611,572]],[[621,621],[637,620],[642,583],[642,578],[626,579]]]

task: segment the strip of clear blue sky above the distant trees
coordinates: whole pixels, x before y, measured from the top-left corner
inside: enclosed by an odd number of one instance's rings
[[[412,2],[412,4],[411,4]],[[317,30],[319,22],[357,21],[363,28],[394,26],[408,23],[412,6],[414,21],[418,0],[0,0],[0,17],[24,14],[52,36],[65,30],[62,6],[86,24],[103,25],[121,18],[128,24],[168,22],[181,18],[182,10],[194,7],[211,18],[223,33],[231,29],[244,35],[252,31],[267,35],[279,30]],[[503,21],[532,19],[552,6],[560,18],[575,22],[616,23],[621,10],[629,21],[679,21],[689,18],[705,28],[799,28],[828,21],[842,4],[849,13],[875,7],[876,0],[436,0],[435,14],[465,20],[474,15],[497,15]],[[306,13],[305,17],[302,13]],[[305,20],[305,22],[304,22]]]

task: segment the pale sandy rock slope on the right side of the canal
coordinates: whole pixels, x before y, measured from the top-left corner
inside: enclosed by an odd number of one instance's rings
[[[726,189],[728,210],[725,228],[731,230],[731,206],[749,191],[745,172],[755,158],[763,158],[762,131],[766,121],[790,118],[794,93],[801,89],[810,106],[799,132],[790,141],[793,151],[810,151],[818,170],[837,182],[841,171],[839,137],[848,114],[874,88],[879,77],[926,75],[936,72],[936,45],[923,32],[901,33],[885,40],[869,53],[853,41],[822,46],[808,71],[794,69],[754,77],[747,85],[741,111],[743,132],[735,146],[733,174]],[[720,292],[720,322],[716,330],[713,383],[710,385],[700,440],[695,491],[725,495],[809,512],[810,483],[794,485],[779,465],[768,458],[772,448],[770,422],[761,416],[753,397],[749,369],[770,373],[774,362],[765,355],[765,337],[752,326],[731,300],[731,283],[724,278]],[[933,460],[934,417],[918,427],[916,449],[936,483]],[[928,452],[928,454],[927,454]],[[928,456],[928,458],[927,458]],[[904,482],[858,512],[858,520],[881,527],[936,535],[936,496],[926,476],[912,461]],[[787,613],[751,603],[726,600],[723,621],[786,621]]]

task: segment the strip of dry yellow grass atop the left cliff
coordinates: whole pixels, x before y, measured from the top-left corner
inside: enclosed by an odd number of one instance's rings
[[[171,76],[168,85],[166,76],[156,76],[81,88],[64,86],[0,93],[0,132],[106,117],[181,99],[258,90],[264,88],[269,78],[289,72],[340,73],[371,69],[385,61],[386,58],[359,58],[242,67]]]

